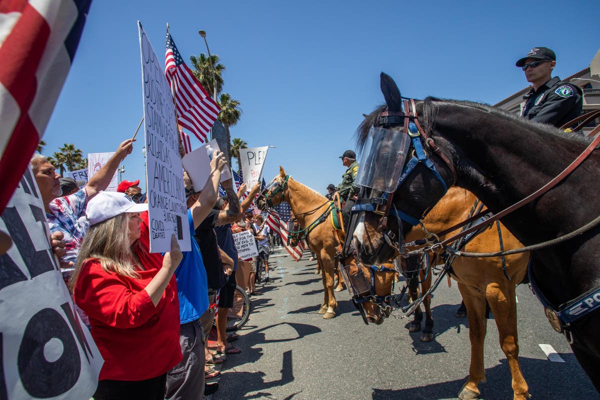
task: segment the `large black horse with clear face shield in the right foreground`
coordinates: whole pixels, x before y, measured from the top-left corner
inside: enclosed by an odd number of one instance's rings
[[[364,263],[394,257],[401,249],[402,232],[418,224],[448,187],[471,191],[491,212],[503,210],[500,221],[532,250],[529,279],[545,314],[553,328],[565,334],[600,390],[600,314],[593,312],[600,297],[600,228],[598,218],[590,215],[600,206],[600,154],[589,154],[590,140],[468,101],[429,97],[406,101],[403,111],[394,80],[382,73],[380,83],[386,104],[363,124],[374,127],[373,134],[389,134],[390,145],[408,140],[407,151],[412,148],[419,162],[409,157],[401,161],[396,185],[382,185],[377,181],[382,174],[367,176],[359,203],[381,215],[370,210],[353,215],[344,249],[353,244]],[[365,131],[359,133],[359,146],[367,143]],[[587,158],[568,173],[565,168],[581,160],[581,154]],[[404,170],[409,164],[412,172]],[[548,182],[557,182],[553,178],[559,175],[559,185],[550,191],[544,188],[535,201],[517,207]],[[443,248],[442,243],[433,248]],[[477,394],[473,386],[465,389]],[[515,398],[524,396],[515,392]]]

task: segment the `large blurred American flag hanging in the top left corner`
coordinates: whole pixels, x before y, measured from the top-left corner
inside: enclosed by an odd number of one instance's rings
[[[91,0],[0,3],[0,214],[46,130]]]

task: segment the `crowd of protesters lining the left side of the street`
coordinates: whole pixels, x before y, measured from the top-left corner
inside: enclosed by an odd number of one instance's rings
[[[253,272],[236,281],[238,266],[256,264],[238,260],[233,233],[253,231],[268,277],[269,229],[248,212],[260,184],[242,200],[245,185],[236,193],[232,179],[220,182],[226,161],[215,152],[203,188],[183,176],[191,250],[182,252],[173,235],[169,252],[151,253],[139,181],[106,191],[133,142],[121,143],[85,185],[61,178],[41,155],[32,172],[65,282],[104,359],[94,399],[202,400],[218,389],[214,365],[241,353],[230,343],[238,335],[226,333],[236,283],[260,294]]]

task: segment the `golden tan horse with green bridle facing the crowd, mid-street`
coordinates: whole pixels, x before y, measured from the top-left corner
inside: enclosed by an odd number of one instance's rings
[[[292,213],[304,230],[309,248],[317,255],[317,263],[322,271],[325,297],[319,308],[326,320],[335,317],[337,300],[334,294],[334,266],[336,255],[341,251],[344,233],[335,229],[328,221],[330,213],[337,213],[341,222],[341,213],[337,212],[334,202],[311,188],[295,181],[280,166],[280,173],[271,181],[257,200],[261,210],[274,207],[283,201],[290,204]]]

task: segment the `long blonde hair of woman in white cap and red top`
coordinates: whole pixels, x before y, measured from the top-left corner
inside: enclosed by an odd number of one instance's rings
[[[77,256],[75,270],[69,282],[71,290],[75,287],[83,264],[91,259],[100,261],[106,272],[139,278],[137,257],[133,248],[139,246],[139,240],[129,244],[129,213],[122,213],[89,227]]]

